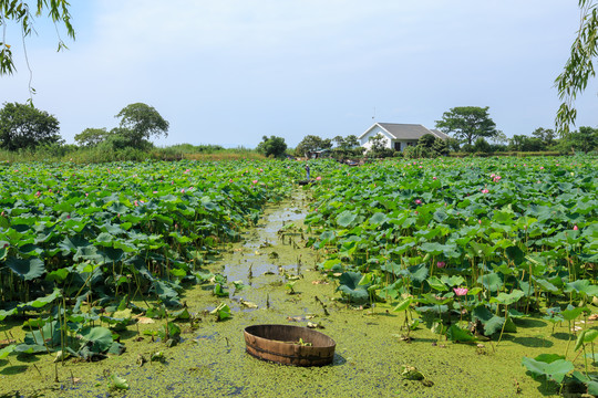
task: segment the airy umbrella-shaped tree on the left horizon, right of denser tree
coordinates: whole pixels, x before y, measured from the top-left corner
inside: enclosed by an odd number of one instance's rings
[[[168,122],[152,106],[136,103],[125,106],[115,117],[121,118],[121,129],[131,146],[144,146],[152,136],[168,136]]]

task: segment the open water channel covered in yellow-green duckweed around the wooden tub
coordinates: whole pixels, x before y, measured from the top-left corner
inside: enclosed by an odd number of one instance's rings
[[[437,343],[436,335],[420,327],[405,343],[396,337],[403,315],[389,313],[391,305],[360,311],[336,301],[333,282],[313,270],[317,253],[305,249],[307,205],[298,192],[295,199],[268,208],[243,242],[208,265],[209,271],[227,275],[229,297],[214,296],[209,286],[187,291],[183,300],[202,321],[197,328],[181,323],[179,345],[167,348],[147,336],[137,341],[133,325],[123,334],[126,353],[99,363],[69,360],[62,366],[54,365],[50,355],[10,357],[10,363],[0,360],[0,392],[45,397],[537,397],[555,392],[553,386],[526,376],[520,360],[542,353],[564,354],[566,327],[558,326],[553,334],[547,322],[526,318],[517,321],[518,333],[503,336],[498,346],[482,343],[483,347]],[[236,290],[233,281],[246,287]],[[233,317],[215,322],[205,311],[223,302],[233,308]],[[320,331],[336,339],[332,365],[287,367],[245,353],[246,326],[308,322],[320,324]],[[140,332],[157,329],[159,323],[138,327]],[[164,353],[163,363],[141,365],[140,357],[156,352]],[[416,367],[432,383],[404,379],[403,365]],[[130,388],[111,391],[109,373],[125,378]]]

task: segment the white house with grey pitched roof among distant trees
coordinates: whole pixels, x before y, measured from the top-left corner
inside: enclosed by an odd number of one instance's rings
[[[426,134],[446,139],[448,136],[437,129],[429,129],[422,125],[398,124],[398,123],[374,123],[374,125],[359,136],[359,142],[365,150],[370,150],[370,137],[381,135],[384,139],[384,146],[394,150],[402,151],[408,146],[417,145],[417,139]]]

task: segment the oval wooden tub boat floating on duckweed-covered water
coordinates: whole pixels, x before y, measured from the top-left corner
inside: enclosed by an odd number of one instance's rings
[[[337,343],[323,333],[291,325],[254,325],[245,328],[247,354],[262,360],[295,366],[332,363]]]

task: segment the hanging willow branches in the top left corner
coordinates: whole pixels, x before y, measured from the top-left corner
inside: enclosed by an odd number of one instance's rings
[[[32,3],[30,6],[30,3]],[[33,21],[35,17],[41,17],[44,11],[48,11],[48,17],[59,24],[62,22],[66,28],[66,33],[74,40],[75,32],[71,24],[71,14],[69,12],[69,2],[66,0],[37,0],[37,1],[22,1],[22,0],[0,0],[0,29],[6,29],[6,24],[14,22],[20,25],[21,36],[29,36],[33,32]],[[32,13],[32,10],[33,13]],[[4,31],[6,32],[6,31]],[[21,36],[17,40],[21,40]],[[12,61],[11,45],[6,42],[6,34],[0,42],[0,75],[12,74],[16,70],[14,62]],[[64,42],[58,36],[59,51],[66,48]]]

